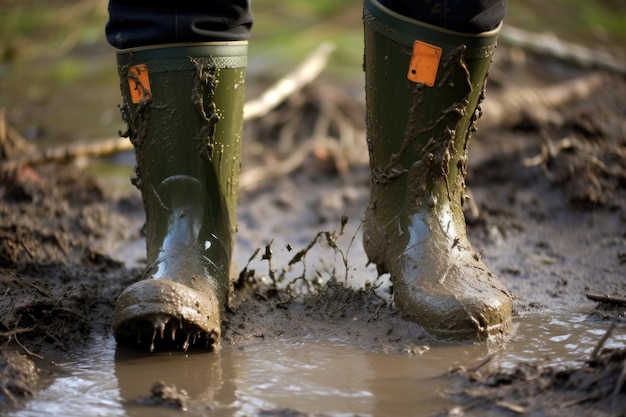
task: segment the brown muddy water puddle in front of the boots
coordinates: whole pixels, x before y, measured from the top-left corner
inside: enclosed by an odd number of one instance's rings
[[[515,336],[488,366],[531,361],[570,364],[589,357],[606,332],[585,314],[518,317]],[[617,328],[607,347],[622,347]],[[116,350],[114,340],[95,339],[57,366],[50,383],[19,411],[25,416],[332,416],[433,415],[453,406],[442,393],[442,377],[454,365],[473,366],[485,346],[431,346],[424,352],[383,353],[349,339],[263,340],[219,352],[138,355]],[[155,407],[149,397],[157,381],[184,389],[187,410]],[[283,410],[282,414],[279,410]]]

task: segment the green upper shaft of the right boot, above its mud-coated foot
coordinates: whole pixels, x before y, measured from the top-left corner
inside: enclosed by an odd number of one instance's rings
[[[376,0],[365,1],[363,20],[372,182],[398,188],[398,195],[417,187],[407,198],[445,185],[457,199],[499,28],[453,32]]]

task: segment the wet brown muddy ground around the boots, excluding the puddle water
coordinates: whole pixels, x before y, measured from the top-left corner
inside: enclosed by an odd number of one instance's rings
[[[537,91],[584,75],[541,58],[520,65],[507,50],[499,56],[488,101],[497,102],[515,72],[520,73],[518,80],[535,80],[532,87]],[[535,71],[543,76],[529,74]],[[468,232],[485,262],[514,294],[516,316],[586,311],[599,328],[608,323],[623,326],[626,79],[598,74],[602,82],[588,96],[555,108],[540,103],[526,107],[485,128],[479,123],[472,139]],[[327,230],[327,224],[335,224],[338,231],[342,214],[352,219],[362,215],[369,172],[364,140],[358,141],[363,137],[360,94],[314,84],[246,127],[246,136],[254,135],[259,146],[244,155],[241,259],[252,256],[257,247],[258,258],[269,253],[259,242],[270,242],[285,222],[292,228],[295,255],[318,231]],[[329,105],[345,116],[344,123],[331,123],[325,139],[302,154],[297,169],[279,175],[280,169],[263,168],[282,167],[286,155],[303,149],[313,131],[307,126],[315,125]],[[294,114],[301,115],[298,129],[304,130],[292,129],[285,139],[280,133],[289,131]],[[329,139],[339,137],[346,124],[354,142]],[[257,168],[261,174],[246,177]],[[41,358],[111,331],[117,295],[140,275],[138,267],[112,253],[141,239],[143,213],[138,194],[113,195],[98,179],[71,165],[22,167],[0,175],[0,401],[19,403],[37,395]],[[261,177],[272,181],[257,183]],[[322,233],[325,243],[318,245],[332,246],[334,236]],[[307,276],[322,293],[290,299],[264,284],[284,266],[280,259],[273,265],[267,261],[271,273],[244,269],[225,323],[224,344],[311,331],[354,334],[372,349],[390,351],[430,343],[371,285],[346,288],[337,280],[321,290],[322,285]],[[592,301],[587,298],[591,293],[615,300]],[[355,324],[351,318],[358,315],[367,317],[362,321],[367,323]],[[593,358],[575,367],[519,363],[507,370],[452,370],[450,395],[458,407],[448,415],[623,416],[626,347],[602,349],[600,340],[598,347]]]

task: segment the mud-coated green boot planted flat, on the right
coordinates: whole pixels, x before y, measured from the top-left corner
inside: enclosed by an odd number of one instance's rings
[[[445,340],[511,329],[511,295],[466,237],[467,146],[498,30],[465,35],[366,0],[371,197],[364,246],[402,314]]]

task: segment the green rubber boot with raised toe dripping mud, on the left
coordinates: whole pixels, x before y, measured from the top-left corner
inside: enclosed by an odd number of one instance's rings
[[[118,52],[122,116],[146,211],[142,280],[117,300],[119,342],[219,343],[236,228],[246,42]]]

